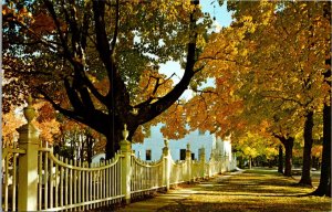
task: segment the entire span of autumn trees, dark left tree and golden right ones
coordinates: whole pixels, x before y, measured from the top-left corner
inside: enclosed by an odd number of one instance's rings
[[[198,1],[9,0],[3,109],[31,92],[102,134],[106,158],[118,150],[124,124],[129,140],[142,140],[158,121],[165,136],[180,138],[188,124],[243,145],[279,140],[291,176],[300,139],[303,184],[311,184],[312,142],[322,137],[317,193],[331,195],[330,2],[228,8],[234,23],[208,34],[211,20]],[[184,68],[176,85],[159,73],[170,60]],[[216,85],[203,88],[209,78]],[[187,88],[194,97],[178,100]]]

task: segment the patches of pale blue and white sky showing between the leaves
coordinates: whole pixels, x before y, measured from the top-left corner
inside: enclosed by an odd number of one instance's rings
[[[200,6],[203,12],[210,13],[211,18],[216,17],[215,24],[220,26],[228,26],[231,23],[231,13],[227,11],[227,3],[225,2],[222,7],[219,6],[218,0],[200,0]],[[173,77],[175,84],[180,81],[180,77],[184,74],[184,70],[180,68],[178,62],[168,61],[165,64],[160,64],[159,73],[172,76],[173,73],[176,73],[177,76]],[[206,86],[212,86],[214,80],[209,80]],[[190,98],[193,92],[187,89],[180,98]]]

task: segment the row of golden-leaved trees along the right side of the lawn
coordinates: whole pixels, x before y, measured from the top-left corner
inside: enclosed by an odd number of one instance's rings
[[[231,26],[214,34],[200,63],[201,78],[216,86],[197,91],[191,127],[231,135],[248,145],[278,139],[291,176],[294,141],[303,142],[300,184],[312,186],[313,140],[323,140],[321,184],[331,195],[331,3],[228,2]],[[193,107],[204,102],[199,114]],[[203,105],[203,104],[200,104]],[[212,121],[211,121],[212,120]],[[242,145],[241,145],[242,146]]]

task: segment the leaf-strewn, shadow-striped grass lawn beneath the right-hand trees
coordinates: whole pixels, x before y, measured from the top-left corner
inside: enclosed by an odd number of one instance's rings
[[[226,180],[205,182],[196,194],[158,211],[332,211],[330,198],[308,197],[314,189],[297,187],[297,182],[276,170],[247,170]],[[319,178],[313,178],[313,186],[318,182]]]

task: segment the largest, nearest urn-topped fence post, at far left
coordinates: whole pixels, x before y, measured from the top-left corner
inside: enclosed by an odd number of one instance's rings
[[[37,211],[38,148],[40,142],[39,130],[31,123],[35,116],[31,96],[29,96],[28,106],[23,112],[28,124],[17,129],[19,132],[19,147],[25,150],[25,153],[19,157],[18,210]]]

